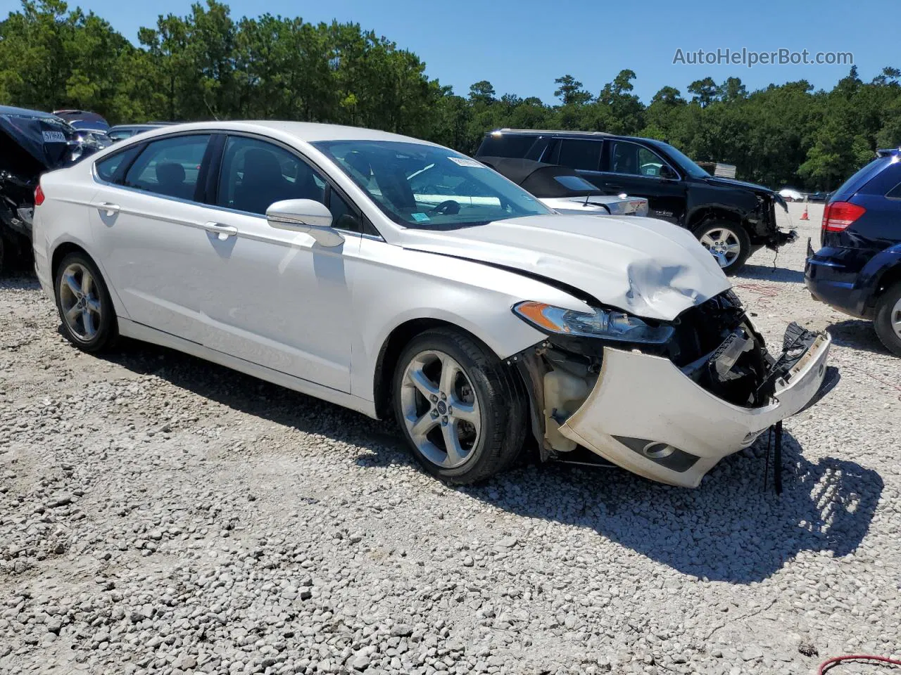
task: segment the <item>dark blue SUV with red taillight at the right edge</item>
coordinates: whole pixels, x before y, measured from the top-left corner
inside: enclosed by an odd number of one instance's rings
[[[823,247],[807,244],[805,283],[816,300],[873,321],[901,356],[901,148],[878,157],[833,193],[823,213]]]

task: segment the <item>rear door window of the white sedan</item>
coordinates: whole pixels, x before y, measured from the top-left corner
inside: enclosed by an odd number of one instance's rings
[[[208,134],[154,140],[128,169],[125,184],[168,197],[194,199],[209,142]]]

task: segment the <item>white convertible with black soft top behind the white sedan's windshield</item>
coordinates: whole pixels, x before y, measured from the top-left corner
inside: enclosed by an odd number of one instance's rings
[[[534,194],[558,213],[646,216],[648,200],[625,194],[603,194],[572,169],[518,157],[479,157],[498,174]]]

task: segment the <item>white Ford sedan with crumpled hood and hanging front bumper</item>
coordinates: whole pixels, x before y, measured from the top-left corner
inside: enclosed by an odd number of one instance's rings
[[[427,170],[425,170],[427,169]],[[289,122],[168,127],[41,178],[62,329],[394,416],[474,482],[531,435],[696,486],[815,399],[830,339],[769,355],[714,258],[645,218],[561,216],[447,148]]]

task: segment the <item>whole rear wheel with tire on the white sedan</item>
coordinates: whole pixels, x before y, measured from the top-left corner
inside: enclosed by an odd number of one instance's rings
[[[59,263],[53,286],[68,341],[92,354],[112,347],[118,337],[113,301],[94,261],[70,253]]]

